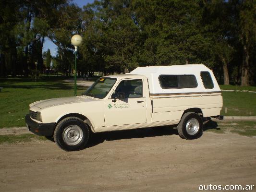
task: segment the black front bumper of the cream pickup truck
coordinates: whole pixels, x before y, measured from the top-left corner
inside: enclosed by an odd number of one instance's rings
[[[25,121],[29,131],[42,136],[53,135],[55,123],[37,123],[30,118],[30,115],[25,116]]]

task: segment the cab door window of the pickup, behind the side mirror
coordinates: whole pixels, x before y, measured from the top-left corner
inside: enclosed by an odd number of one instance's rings
[[[123,80],[117,86],[112,98],[123,95],[125,98],[142,97],[142,79]]]

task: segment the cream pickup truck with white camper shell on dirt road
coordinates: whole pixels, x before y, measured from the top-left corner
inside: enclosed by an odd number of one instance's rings
[[[204,65],[139,67],[100,77],[82,96],[29,105],[25,121],[38,135],[53,136],[66,151],[82,149],[91,132],[177,125],[184,139],[200,137],[203,120],[219,118],[219,85]]]

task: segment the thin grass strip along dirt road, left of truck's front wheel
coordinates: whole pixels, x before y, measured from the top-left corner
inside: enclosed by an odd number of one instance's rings
[[[46,141],[48,140],[44,136],[37,136],[35,134],[20,134],[20,135],[0,135],[0,144],[3,143],[21,143],[21,142],[30,142],[32,139],[37,139],[37,140],[43,140]]]

